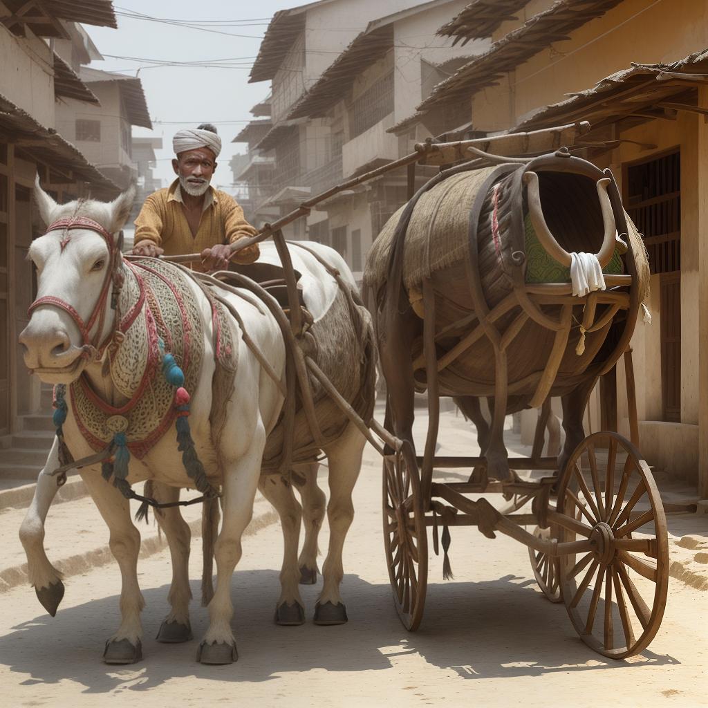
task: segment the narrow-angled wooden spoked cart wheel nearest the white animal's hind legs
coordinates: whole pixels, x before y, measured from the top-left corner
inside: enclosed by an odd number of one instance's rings
[[[423,619],[428,588],[428,536],[421,478],[410,442],[384,457],[384,547],[394,604],[401,622],[415,632]]]

